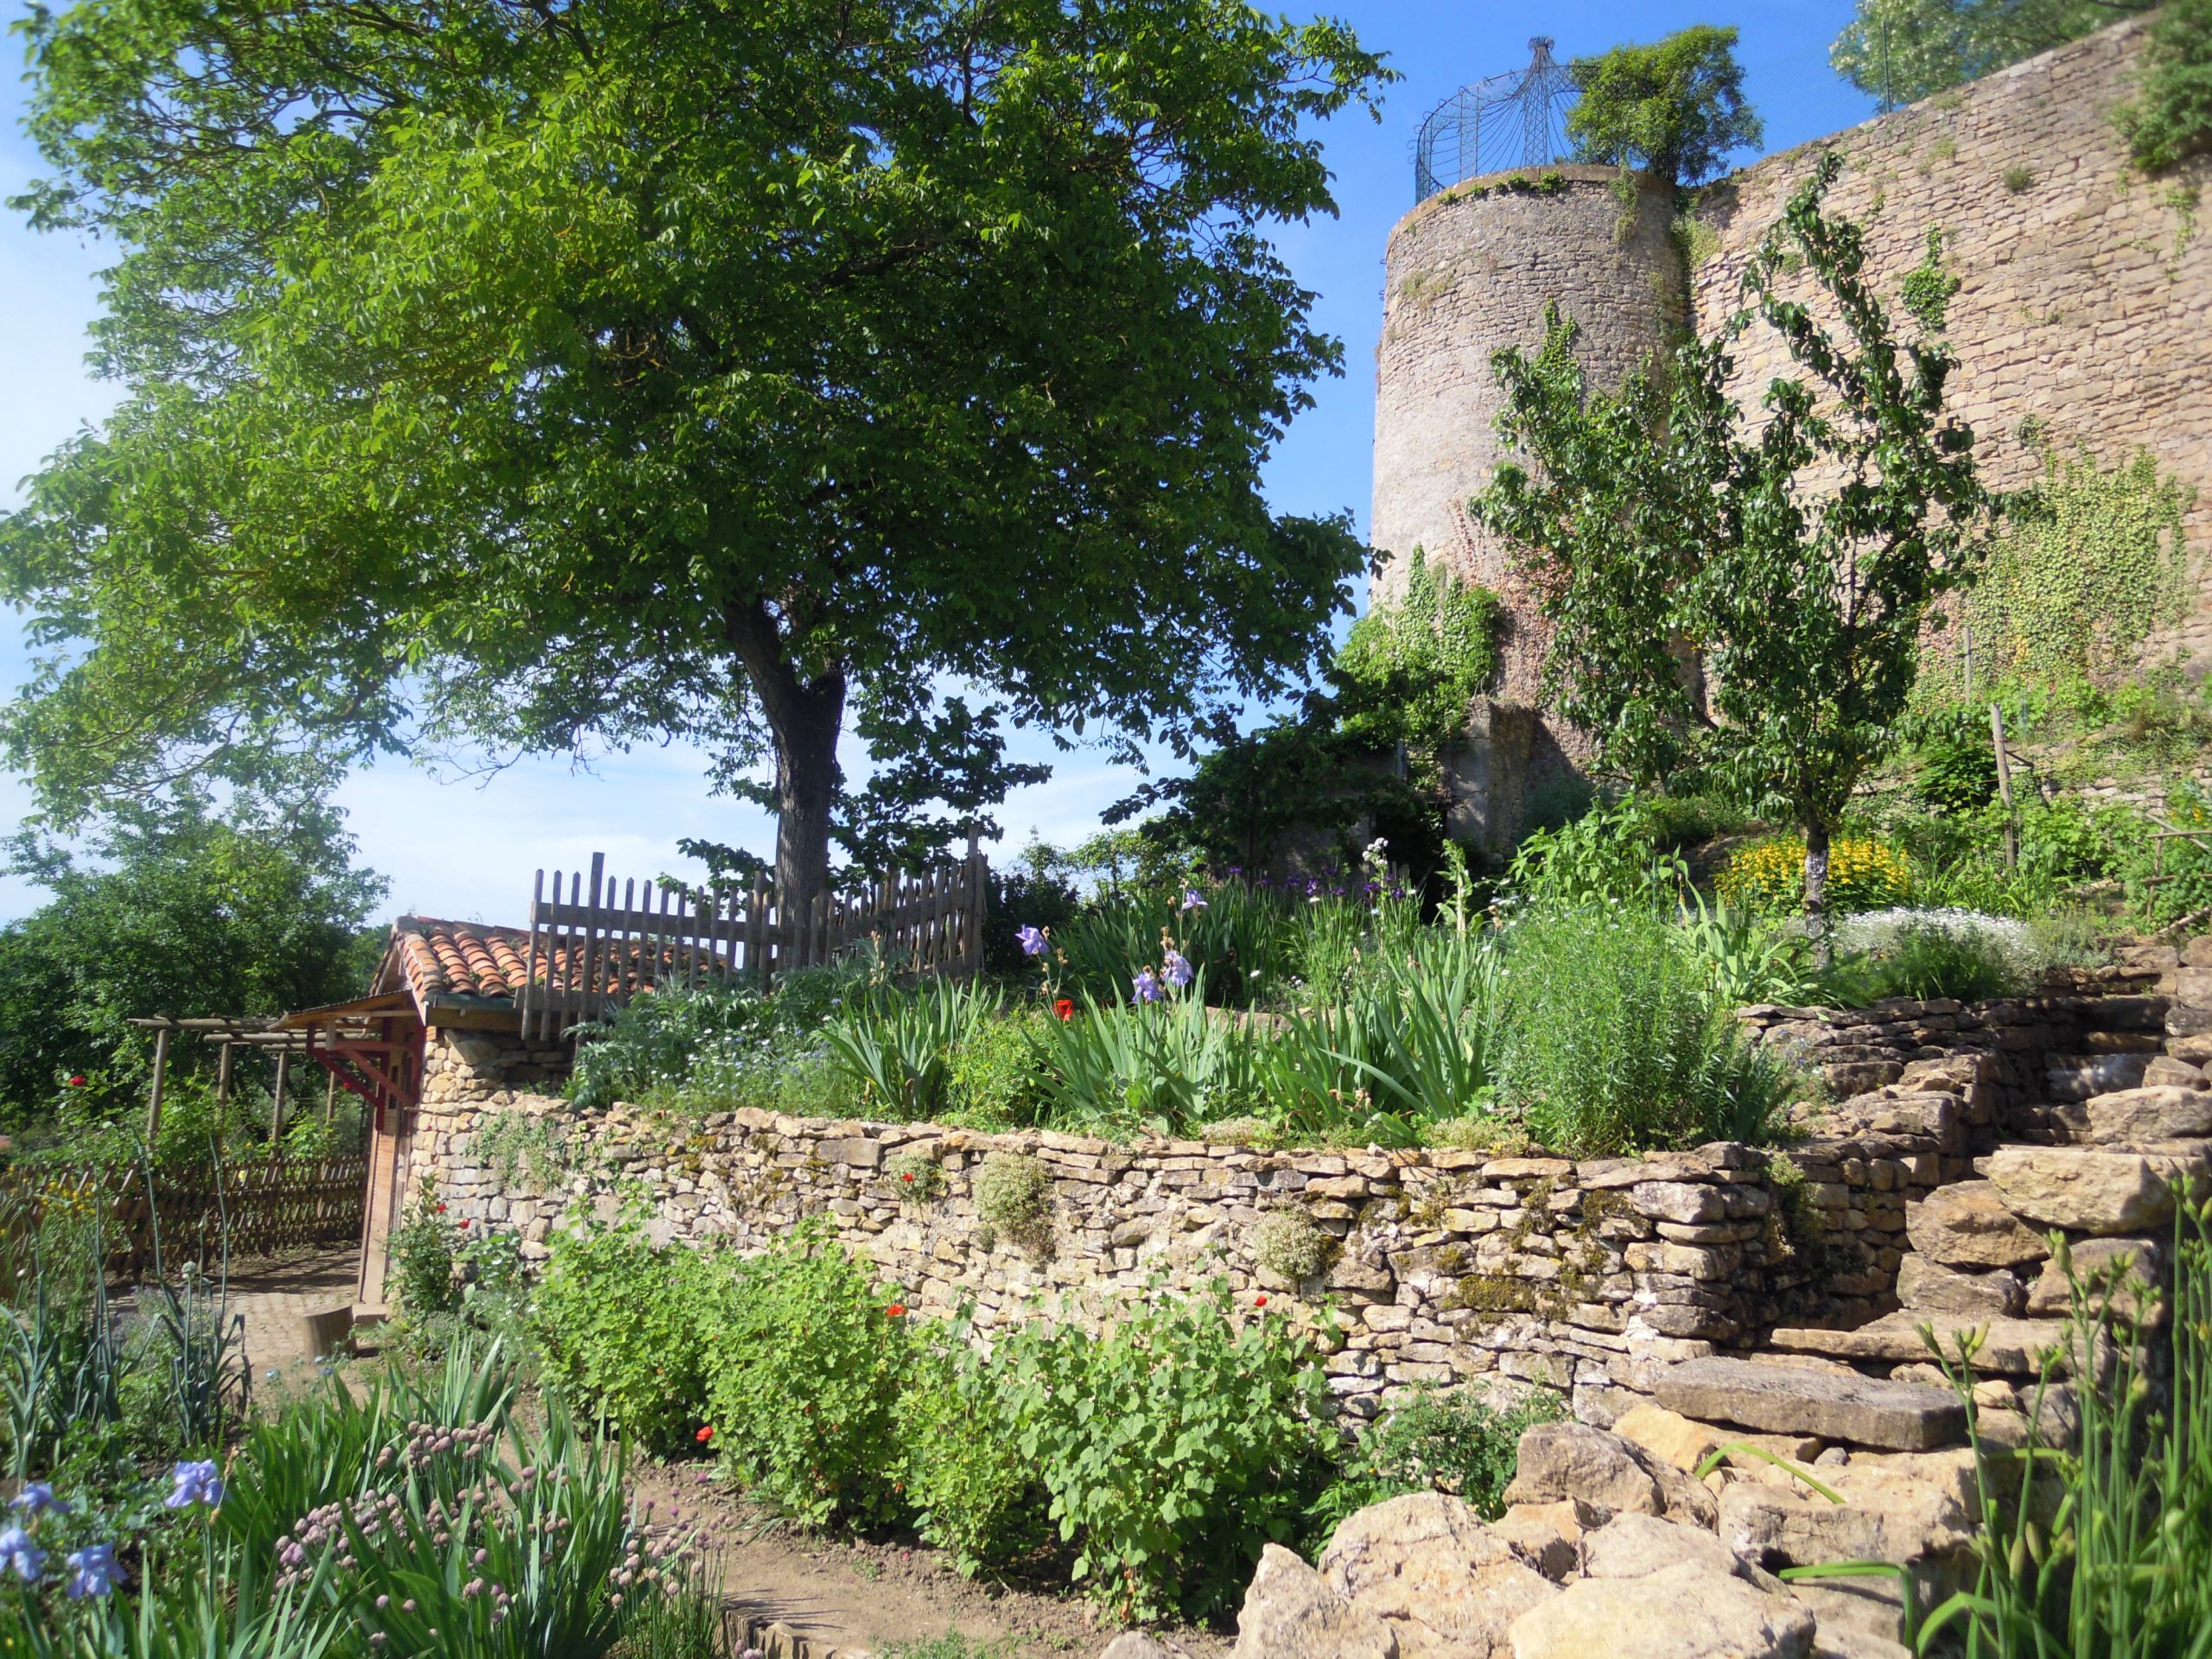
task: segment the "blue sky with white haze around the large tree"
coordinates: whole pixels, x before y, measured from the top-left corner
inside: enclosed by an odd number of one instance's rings
[[[1279,2],[1279,0],[1276,0]],[[1274,9],[1274,4],[1270,4]],[[1287,7],[1294,15],[1301,7]],[[1827,42],[1851,13],[1849,0],[1756,0],[1734,11],[1690,4],[1553,0],[1500,7],[1489,0],[1416,4],[1347,0],[1336,7],[1360,40],[1389,53],[1405,75],[1385,100],[1380,124],[1345,115],[1325,135],[1340,217],[1290,226],[1281,248],[1314,290],[1316,321],[1345,341],[1345,376],[1316,389],[1310,409],[1267,467],[1279,511],[1352,509],[1367,524],[1374,442],[1374,343],[1383,316],[1383,239],[1413,204],[1411,139],[1422,113],[1458,86],[1520,69],[1528,35],[1555,38],[1559,60],[1621,40],[1655,40],[1692,22],[1732,22],[1750,97],[1765,117],[1767,146],[1790,148],[1874,113],[1867,97],[1827,66]],[[13,42],[9,42],[13,49]],[[38,177],[38,157],[20,133],[22,86],[0,84],[0,192]],[[97,314],[95,243],[38,237],[0,212],[0,502],[20,498],[15,480],[84,422],[97,422],[115,389],[84,372],[84,330]],[[24,679],[18,624],[0,613],[0,688]],[[1000,818],[1006,841],[1031,832],[1068,843],[1128,794],[1139,776],[1095,752],[1062,754],[1044,734],[1018,737],[1024,759],[1053,763],[1053,779],[1013,794]],[[615,754],[588,770],[566,759],[513,765],[491,781],[438,781],[405,763],[349,779],[341,792],[369,865],[392,878],[392,911],[509,920],[529,898],[540,865],[575,867],[606,852],[617,874],[679,869],[681,836],[772,847],[768,814],[712,799],[701,757],[681,750]],[[0,823],[27,810],[18,779],[0,774]],[[40,902],[38,889],[0,878],[0,920]]]

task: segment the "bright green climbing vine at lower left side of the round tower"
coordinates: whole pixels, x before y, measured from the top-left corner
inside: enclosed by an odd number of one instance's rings
[[[1405,593],[1352,624],[1329,679],[1338,730],[1374,748],[1405,743],[1433,765],[1498,675],[1498,595],[1413,549]]]

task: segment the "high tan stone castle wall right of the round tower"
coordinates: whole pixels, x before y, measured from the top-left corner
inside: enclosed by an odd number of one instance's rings
[[[2212,551],[2212,248],[2197,234],[2212,157],[2143,177],[2115,111],[2135,95],[2148,22],[2126,22],[2028,58],[1816,144],[1772,155],[1708,190],[1697,219],[1714,248],[1690,274],[1699,332],[1739,305],[1743,265],[1823,150],[1845,173],[1832,210],[1867,228],[1871,274],[1896,296],[1940,226],[1962,279],[1949,332],[1960,356],[1951,409],[1973,427],[1984,480],[2039,476],[2020,427],[2033,416],[2062,451],[2104,462],[2137,449],[2197,491],[2192,549]],[[1736,396],[1756,407],[1790,369],[1754,327],[1736,352]],[[2212,571],[2174,641],[2212,659]]]

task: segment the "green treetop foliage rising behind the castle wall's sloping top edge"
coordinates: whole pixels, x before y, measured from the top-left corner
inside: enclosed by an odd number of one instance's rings
[[[1858,0],[1827,49],[1836,73],[1885,102],[1911,104],[2095,33],[2154,0]]]

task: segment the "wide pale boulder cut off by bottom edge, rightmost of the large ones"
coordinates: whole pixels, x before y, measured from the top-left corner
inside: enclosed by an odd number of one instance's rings
[[[1805,1659],[1812,1632],[1794,1597],[1686,1564],[1571,1584],[1513,1621],[1513,1659]]]

